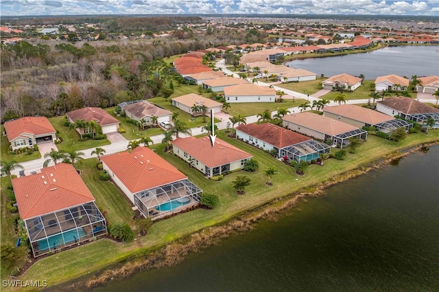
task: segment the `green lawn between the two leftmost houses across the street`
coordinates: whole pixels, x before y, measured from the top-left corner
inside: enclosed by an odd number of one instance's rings
[[[82,149],[95,148],[103,145],[110,144],[108,139],[104,140],[84,140],[81,141],[81,136],[74,129],[70,129],[64,125],[65,118],[53,117],[49,118],[50,123],[54,126],[55,130],[59,132],[56,134],[62,138],[62,143],[56,145],[58,150],[63,151],[80,151]]]

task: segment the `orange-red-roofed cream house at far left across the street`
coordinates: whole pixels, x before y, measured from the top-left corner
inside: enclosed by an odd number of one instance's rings
[[[24,117],[4,126],[12,150],[56,140],[56,130],[46,117]]]

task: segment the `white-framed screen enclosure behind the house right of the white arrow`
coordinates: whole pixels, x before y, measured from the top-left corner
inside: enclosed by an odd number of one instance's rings
[[[317,159],[319,154],[322,153],[329,154],[330,151],[331,151],[331,146],[324,143],[320,143],[318,141],[311,140],[282,148],[281,156],[282,157],[287,156],[288,161],[291,160],[294,160],[296,162],[299,162],[300,160],[310,161],[313,159]]]

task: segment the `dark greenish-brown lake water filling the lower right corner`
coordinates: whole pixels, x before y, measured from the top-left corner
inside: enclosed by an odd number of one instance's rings
[[[439,146],[95,291],[439,291]]]

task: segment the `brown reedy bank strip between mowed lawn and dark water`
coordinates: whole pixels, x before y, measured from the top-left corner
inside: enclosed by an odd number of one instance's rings
[[[253,224],[261,219],[276,220],[282,212],[296,208],[298,204],[306,202],[307,198],[325,195],[326,193],[324,190],[330,186],[346,182],[351,178],[357,178],[359,175],[364,175],[373,169],[379,169],[386,165],[390,165],[395,160],[399,160],[404,156],[415,153],[416,151],[422,151],[423,148],[431,145],[439,145],[439,141],[422,143],[396,150],[383,158],[368,162],[366,165],[360,165],[350,171],[346,171],[337,178],[318,182],[313,186],[302,188],[300,191],[289,193],[283,197],[278,197],[271,202],[252,208],[252,210],[246,210],[229,221],[219,223],[217,226],[204,228],[198,232],[188,234],[187,236],[176,239],[172,243],[163,247],[152,248],[149,254],[140,257],[132,256],[131,258],[123,260],[124,263],[122,265],[121,263],[109,265],[105,269],[93,273],[93,276],[87,275],[81,279],[77,278],[66,284],[51,287],[50,289],[55,289],[57,291],[81,288],[91,289],[110,280],[126,278],[142,269],[176,265],[184,260],[185,256],[191,252],[199,252],[200,250],[204,250],[209,246],[219,243],[229,236],[252,230]],[[82,280],[80,284],[78,284],[78,280]]]

